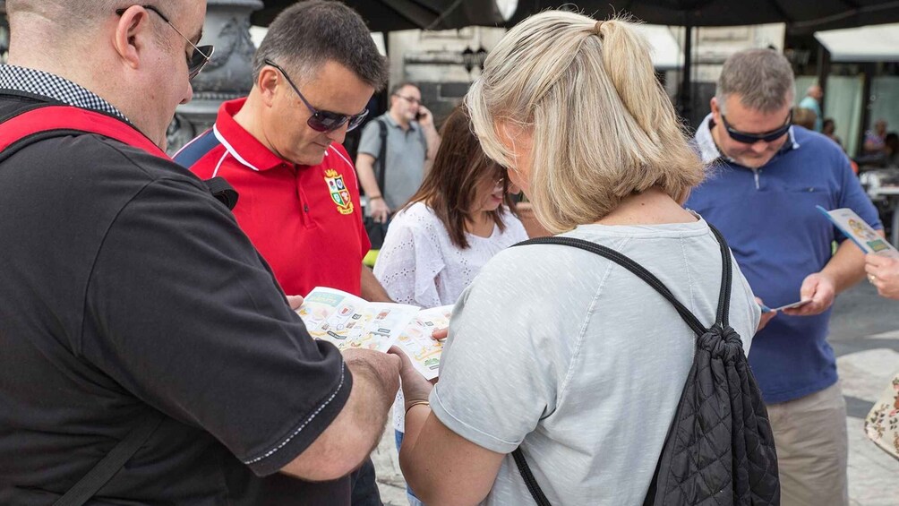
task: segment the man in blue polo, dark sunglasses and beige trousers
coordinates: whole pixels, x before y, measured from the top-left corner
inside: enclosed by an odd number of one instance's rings
[[[728,58],[696,144],[712,173],[687,207],[725,235],[756,296],[798,300],[752,340],[784,504],[848,504],[846,404],[827,343],[836,294],[864,277],[864,255],[815,206],[850,208],[881,228],[839,146],[791,126],[793,71],[770,49]],[[833,241],[841,244],[832,251]],[[769,314],[769,317],[771,314]]]

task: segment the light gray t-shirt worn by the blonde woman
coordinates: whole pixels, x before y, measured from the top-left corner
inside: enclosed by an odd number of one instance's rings
[[[721,253],[704,220],[565,235],[628,255],[715,321]],[[760,310],[732,264],[730,323],[748,353]],[[449,430],[499,453],[521,445],[553,504],[643,502],[696,340],[667,300],[596,254],[521,246],[463,292],[449,336],[431,395]],[[485,504],[533,503],[506,456]]]

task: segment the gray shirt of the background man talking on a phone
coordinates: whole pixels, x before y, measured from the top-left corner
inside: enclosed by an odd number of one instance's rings
[[[387,122],[387,173],[381,194],[387,207],[396,211],[413,196],[424,179],[424,161],[428,155],[428,143],[421,125],[416,121],[404,130],[390,117],[389,112],[369,121],[362,130],[359,153],[375,157],[375,180],[378,181],[381,153],[380,126],[378,120]]]

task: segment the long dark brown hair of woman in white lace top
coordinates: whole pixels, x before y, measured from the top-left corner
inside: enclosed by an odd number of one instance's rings
[[[481,145],[471,131],[467,111],[459,106],[443,123],[441,146],[431,171],[405,207],[422,202],[431,208],[446,227],[452,244],[464,250],[468,247],[465,222],[474,217],[471,207],[476,204],[478,184],[486,179],[503,177],[503,185],[508,188],[508,178],[504,176],[505,170],[481,151]],[[503,193],[503,204],[514,212],[515,204],[508,193]],[[503,206],[490,213],[496,226],[503,231],[504,213]]]

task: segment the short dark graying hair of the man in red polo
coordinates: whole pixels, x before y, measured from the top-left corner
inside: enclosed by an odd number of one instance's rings
[[[289,68],[298,82],[334,61],[375,90],[387,84],[387,58],[378,52],[359,13],[341,2],[298,2],[278,14],[253,59],[254,82],[266,59]]]

